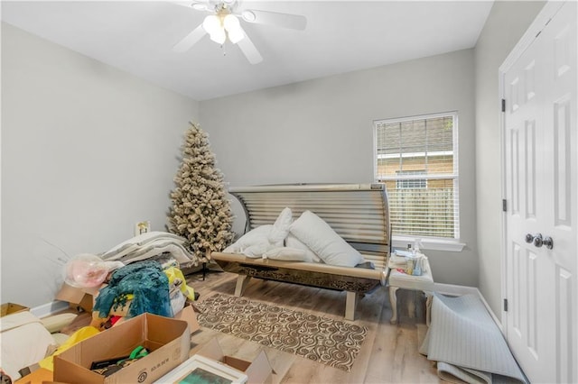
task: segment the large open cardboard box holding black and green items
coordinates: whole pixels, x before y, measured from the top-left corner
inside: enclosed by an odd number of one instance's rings
[[[143,314],[89,337],[54,356],[54,381],[70,384],[152,383],[189,358],[191,325],[183,320]],[[148,355],[102,376],[93,361],[129,355],[142,345]]]

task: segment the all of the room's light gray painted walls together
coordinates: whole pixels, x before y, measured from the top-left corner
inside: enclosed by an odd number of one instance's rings
[[[63,252],[106,251],[144,219],[163,230],[190,120],[231,185],[368,182],[373,120],[458,110],[467,246],[428,254],[438,282],[479,286],[499,314],[498,68],[543,5],[496,2],[475,50],[200,104],[2,23],[2,302],[50,302]]]

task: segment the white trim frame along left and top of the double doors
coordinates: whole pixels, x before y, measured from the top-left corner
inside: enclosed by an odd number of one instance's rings
[[[573,1],[573,0],[569,0]],[[536,19],[527,29],[527,32],[521,37],[521,39],[517,42],[516,46],[513,50],[510,51],[508,57],[504,60],[501,66],[499,66],[499,98],[497,100],[499,105],[499,111],[502,111],[502,100],[506,98],[505,87],[504,87],[504,77],[508,69],[510,69],[516,60],[522,55],[522,53],[527,50],[527,48],[534,42],[536,36],[545,28],[545,25],[549,23],[549,21],[554,17],[554,15],[558,12],[558,10],[564,5],[564,2],[561,1],[548,1],[544,5],[544,8],[537,14]],[[500,112],[499,114],[499,128],[500,128],[500,172],[501,172],[501,190],[502,190],[502,199],[506,198],[506,173],[504,172],[505,166],[505,153],[506,153],[506,126],[505,126],[505,117],[506,114]],[[502,228],[502,237],[500,239],[500,283],[501,283],[501,295],[502,300],[508,297],[508,284],[506,281],[507,277],[507,260],[506,260],[506,239],[507,239],[507,227],[506,227],[506,212],[503,212],[500,219],[500,225]],[[502,329],[502,333],[508,339],[508,312],[505,311],[505,306],[502,302],[501,306],[501,316],[500,316],[500,325]]]

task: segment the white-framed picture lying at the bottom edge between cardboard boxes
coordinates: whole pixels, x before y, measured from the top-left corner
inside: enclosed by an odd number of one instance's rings
[[[158,379],[160,384],[243,384],[247,375],[219,361],[193,355],[174,370]]]

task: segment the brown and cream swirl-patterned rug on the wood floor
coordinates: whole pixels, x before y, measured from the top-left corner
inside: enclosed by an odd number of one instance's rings
[[[244,297],[215,294],[195,306],[201,326],[350,371],[366,327]]]

